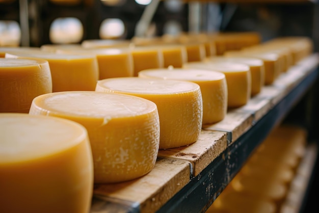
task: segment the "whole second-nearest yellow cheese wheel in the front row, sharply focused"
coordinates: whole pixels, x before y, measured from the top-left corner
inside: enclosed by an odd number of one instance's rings
[[[36,97],[30,114],[63,117],[87,128],[95,183],[135,179],[155,165],[159,119],[149,100],[93,91],[56,92]]]

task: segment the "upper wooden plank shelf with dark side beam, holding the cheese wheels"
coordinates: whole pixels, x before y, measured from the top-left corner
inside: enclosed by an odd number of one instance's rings
[[[91,213],[203,212],[241,169],[253,150],[311,89],[318,78],[313,54],[282,73],[242,108],[204,126],[195,143],[159,150],[147,175],[94,186]]]

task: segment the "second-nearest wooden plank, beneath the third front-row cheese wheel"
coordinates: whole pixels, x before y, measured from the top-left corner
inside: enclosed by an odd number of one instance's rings
[[[188,146],[161,149],[158,156],[189,161],[193,176],[197,176],[227,148],[227,134],[222,131],[202,130],[199,139]]]

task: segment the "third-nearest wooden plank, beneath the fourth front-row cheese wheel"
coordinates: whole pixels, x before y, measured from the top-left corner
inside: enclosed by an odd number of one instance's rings
[[[236,112],[229,110],[225,118],[215,124],[205,125],[205,130],[226,131],[229,144],[243,135],[253,124],[253,114],[250,112]]]

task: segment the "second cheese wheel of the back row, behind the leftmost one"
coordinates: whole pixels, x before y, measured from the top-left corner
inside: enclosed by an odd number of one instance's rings
[[[62,55],[49,52],[10,51],[6,58],[32,57],[49,62],[52,76],[52,92],[94,91],[99,78],[95,56]]]

